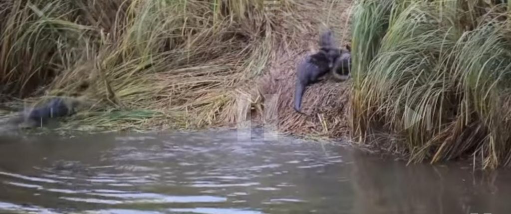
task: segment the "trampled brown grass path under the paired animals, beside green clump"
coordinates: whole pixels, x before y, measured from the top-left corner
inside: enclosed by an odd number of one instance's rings
[[[296,38],[305,39],[295,39],[293,45],[282,48],[276,54],[278,57],[269,65],[268,73],[255,81],[259,90],[253,98],[261,97],[264,102],[265,97],[277,97],[278,102],[264,105],[264,112],[277,112],[269,114],[278,115],[276,123],[281,132],[331,138],[339,138],[349,132],[345,118],[350,80],[335,82],[327,77],[327,80],[310,86],[303,99],[303,111],[306,115],[295,112],[292,103],[296,65],[307,54],[317,51],[319,32],[329,28],[334,31],[339,45],[344,46],[350,42],[351,6],[352,1],[315,1],[304,4],[301,13],[308,18],[304,28],[313,30],[303,31],[304,34],[297,35]],[[317,14],[328,15],[318,17]],[[262,120],[263,116],[260,114],[259,119]]]

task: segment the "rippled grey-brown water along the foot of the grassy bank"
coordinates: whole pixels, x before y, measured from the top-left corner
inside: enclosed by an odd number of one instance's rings
[[[511,213],[511,174],[235,131],[0,137],[0,213]]]

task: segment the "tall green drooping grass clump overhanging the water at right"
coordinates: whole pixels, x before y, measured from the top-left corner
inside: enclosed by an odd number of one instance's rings
[[[473,157],[482,168],[511,165],[504,6],[358,1],[351,116],[358,141],[410,162]]]

